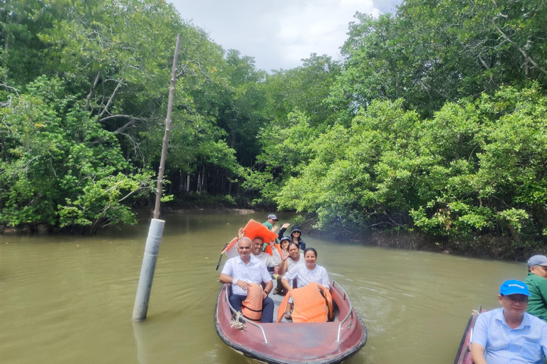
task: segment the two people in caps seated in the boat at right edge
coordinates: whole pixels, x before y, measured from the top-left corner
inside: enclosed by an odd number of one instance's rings
[[[474,364],[546,363],[547,257],[528,259],[528,277],[501,284],[500,309],[480,314],[472,336]]]

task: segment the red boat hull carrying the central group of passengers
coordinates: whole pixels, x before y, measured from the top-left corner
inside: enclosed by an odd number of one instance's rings
[[[275,281],[274,281],[275,283]],[[353,309],[348,294],[333,281],[330,294],[335,319],[324,323],[254,323],[244,318],[237,328],[234,309],[229,304],[230,284],[223,284],[217,301],[214,322],[224,343],[239,353],[272,364],[340,363],[362,348],[367,328]],[[276,309],[283,296],[271,295]]]

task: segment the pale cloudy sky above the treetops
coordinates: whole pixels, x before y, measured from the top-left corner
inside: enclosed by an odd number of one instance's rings
[[[356,11],[394,12],[402,0],[172,0],[179,14],[224,49],[254,57],[256,68],[295,68],[311,53],[340,59]]]

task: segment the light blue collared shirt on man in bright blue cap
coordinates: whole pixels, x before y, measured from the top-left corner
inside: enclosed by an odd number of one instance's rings
[[[484,346],[488,364],[541,364],[547,355],[547,323],[524,313],[521,325],[510,328],[504,309],[495,309],[476,319],[472,343]]]

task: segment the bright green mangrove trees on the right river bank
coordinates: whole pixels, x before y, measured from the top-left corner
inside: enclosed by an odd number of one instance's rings
[[[263,198],[338,234],[546,242],[546,7],[408,0],[355,18],[321,126],[298,107],[283,141],[261,133]]]

